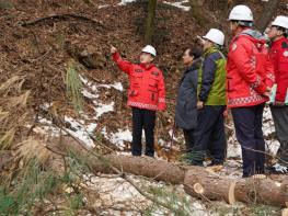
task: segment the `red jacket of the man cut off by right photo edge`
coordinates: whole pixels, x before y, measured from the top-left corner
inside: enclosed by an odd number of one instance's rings
[[[269,55],[274,65],[277,84],[275,99],[276,101],[285,102],[288,92],[288,39],[283,37],[273,42]]]

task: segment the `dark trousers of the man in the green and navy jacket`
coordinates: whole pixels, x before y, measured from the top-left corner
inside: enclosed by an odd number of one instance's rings
[[[201,164],[209,149],[212,162],[223,162],[226,157],[224,105],[205,105],[198,112],[195,129],[195,154],[199,154],[195,164]]]

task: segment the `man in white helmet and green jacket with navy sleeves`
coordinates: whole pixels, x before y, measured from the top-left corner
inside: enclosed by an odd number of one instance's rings
[[[223,112],[226,110],[226,57],[220,52],[224,34],[211,29],[203,36],[204,62],[198,75],[198,124],[195,129],[194,151],[199,157],[194,164],[203,166],[209,149],[211,163],[222,166],[226,156]]]

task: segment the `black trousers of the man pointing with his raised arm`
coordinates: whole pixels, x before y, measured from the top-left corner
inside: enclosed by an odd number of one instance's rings
[[[146,138],[145,155],[154,156],[154,125],[155,111],[133,107],[133,156],[141,156],[142,129],[145,129]]]

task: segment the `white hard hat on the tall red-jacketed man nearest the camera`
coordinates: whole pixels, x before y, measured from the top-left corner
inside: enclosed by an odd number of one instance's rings
[[[246,5],[239,4],[231,10],[228,20],[253,22],[253,13]]]

